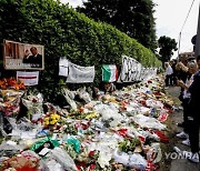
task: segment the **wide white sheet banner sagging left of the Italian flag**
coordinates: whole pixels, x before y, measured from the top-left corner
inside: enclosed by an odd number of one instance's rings
[[[94,79],[94,67],[81,67],[69,62],[69,72],[66,82],[71,83],[83,83],[93,82]]]

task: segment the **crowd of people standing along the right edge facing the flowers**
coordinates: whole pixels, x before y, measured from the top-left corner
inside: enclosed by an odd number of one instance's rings
[[[182,144],[189,145],[191,152],[187,157],[192,162],[200,162],[199,154],[199,127],[200,115],[198,103],[200,101],[200,56],[196,59],[179,59],[166,62],[166,87],[180,87],[179,99],[183,107],[182,132],[177,137],[183,139]]]

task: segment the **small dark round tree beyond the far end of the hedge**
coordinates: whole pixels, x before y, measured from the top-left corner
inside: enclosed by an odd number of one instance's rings
[[[170,60],[173,56],[173,50],[178,50],[176,40],[166,36],[159,38],[158,46],[160,48],[159,54],[162,63]]]

